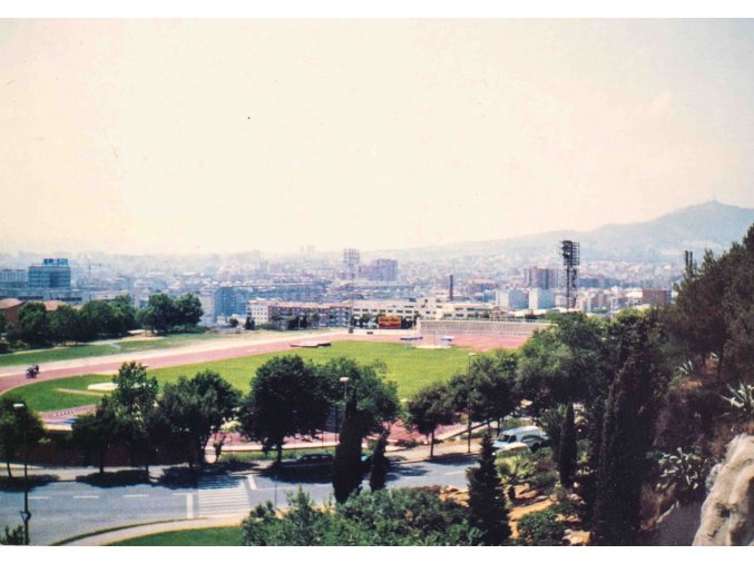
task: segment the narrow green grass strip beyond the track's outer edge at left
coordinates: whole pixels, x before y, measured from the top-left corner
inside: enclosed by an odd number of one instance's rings
[[[69,347],[22,350],[19,353],[0,355],[0,366],[52,363],[56,360],[72,360],[75,358],[87,358],[95,356],[117,355],[120,353],[133,353],[137,350],[176,347],[180,345],[187,345],[196,340],[217,338],[219,336],[221,335],[216,333],[186,333],[168,335],[166,337],[148,340],[118,340],[102,345],[72,345]]]

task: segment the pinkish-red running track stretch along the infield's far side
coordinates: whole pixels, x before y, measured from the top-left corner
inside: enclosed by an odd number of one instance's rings
[[[529,337],[526,335],[457,335],[453,339],[453,345],[473,350],[489,350],[491,348],[516,348]],[[170,366],[180,366],[186,364],[209,363],[213,360],[226,360],[229,358],[241,358],[244,356],[263,355],[266,353],[278,353],[281,350],[291,350],[291,343],[302,340],[364,340],[379,343],[403,343],[398,335],[323,335],[323,336],[307,336],[307,337],[292,337],[277,343],[254,344],[253,342],[244,345],[234,345],[229,348],[219,350],[200,350],[194,353],[179,353],[169,356],[160,356],[154,358],[145,358],[143,362],[150,369],[167,368]],[[432,337],[424,337],[423,340],[417,342],[420,345],[431,345]],[[148,352],[144,352],[145,354]],[[134,359],[138,360],[139,353],[134,353]],[[107,358],[107,357],[104,357]],[[81,362],[86,359],[82,358]],[[0,377],[0,394],[18,386],[31,384],[32,382],[50,380],[57,378],[65,378],[68,376],[80,376],[84,374],[97,374],[115,372],[120,368],[123,362],[108,362],[102,359],[101,363],[90,363],[80,366],[68,368],[46,369],[45,365],[36,380],[29,380],[23,374],[13,376]],[[23,373],[26,367],[19,366],[19,372]]]

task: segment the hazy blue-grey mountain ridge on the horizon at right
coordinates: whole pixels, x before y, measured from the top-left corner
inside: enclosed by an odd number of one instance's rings
[[[721,253],[741,241],[754,224],[754,209],[708,201],[638,224],[606,225],[591,231],[550,231],[540,235],[469,241],[395,250],[398,258],[459,258],[505,255],[510,258],[552,256],[558,241],[581,245],[581,260],[679,261],[684,250],[702,258],[704,249]]]

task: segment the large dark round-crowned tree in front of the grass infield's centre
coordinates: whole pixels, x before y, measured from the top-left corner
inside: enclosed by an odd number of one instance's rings
[[[276,448],[280,463],[286,437],[314,436],[322,428],[335,389],[331,378],[300,356],[273,357],[256,370],[241,409],[241,428],[261,441],[265,453]]]

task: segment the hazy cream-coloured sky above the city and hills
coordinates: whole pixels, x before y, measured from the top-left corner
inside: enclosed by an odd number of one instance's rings
[[[0,250],[384,249],[754,207],[753,21],[0,21]]]

